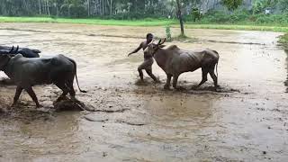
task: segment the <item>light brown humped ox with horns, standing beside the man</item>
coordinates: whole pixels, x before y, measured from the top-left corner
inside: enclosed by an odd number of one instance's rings
[[[165,39],[166,40],[166,39]],[[184,50],[179,49],[177,46],[172,45],[167,49],[163,43],[165,40],[159,40],[157,44],[151,42],[144,52],[152,55],[159,67],[161,67],[167,76],[165,89],[169,89],[171,77],[173,76],[173,87],[176,88],[178,77],[184,72],[193,72],[198,68],[202,68],[202,81],[198,86],[207,81],[207,74],[209,73],[214,81],[215,90],[217,85],[217,76],[214,73],[219,60],[219,54],[215,50],[203,49],[202,51]]]

